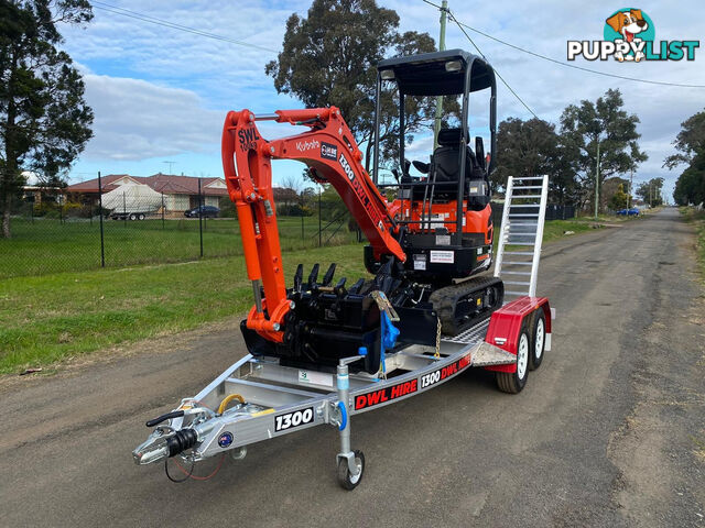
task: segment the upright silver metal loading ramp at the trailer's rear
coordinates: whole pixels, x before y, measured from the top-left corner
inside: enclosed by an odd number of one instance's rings
[[[536,295],[547,198],[549,176],[510,176],[507,180],[495,261],[495,276],[505,283],[505,302]]]

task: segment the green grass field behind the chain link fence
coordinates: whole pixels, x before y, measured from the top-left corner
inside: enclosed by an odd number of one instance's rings
[[[318,245],[318,219],[280,217],[279,231],[283,251]],[[327,222],[324,222],[325,227]],[[355,233],[337,223],[323,233],[323,243],[339,245],[355,240]],[[107,220],[105,258],[107,267],[135,264],[184,262],[198,258],[200,240],[198,220]],[[333,235],[333,238],[330,238]],[[241,255],[239,227],[235,219],[204,221],[204,256]],[[0,239],[0,279],[45,275],[100,267],[100,226],[98,221],[73,219],[12,219],[12,239]]]

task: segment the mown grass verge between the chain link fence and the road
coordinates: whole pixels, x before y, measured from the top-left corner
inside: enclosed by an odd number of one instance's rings
[[[365,273],[359,244],[284,260],[292,274],[300,262],[306,273],[336,262],[336,277],[349,282]],[[241,256],[0,280],[0,373],[239,316],[251,297]]]

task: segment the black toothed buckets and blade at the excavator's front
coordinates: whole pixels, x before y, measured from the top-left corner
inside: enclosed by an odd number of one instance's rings
[[[284,338],[275,343],[240,324],[248,350],[253,355],[280,359],[282,365],[300,366],[335,372],[341,358],[358,355],[365,346],[367,355],[350,366],[351,371],[375,374],[380,369],[381,311],[386,311],[400,330],[394,350],[409,344],[434,346],[437,317],[429,302],[405,307],[413,290],[400,279],[380,271],[373,280],[356,282],[345,288],[345,278],[335,286],[335,264],[328,267],[321,284],[317,283],[321,266],[315,264],[308,282],[301,284],[303,266],[296,268],[294,287],[288,297],[292,308],[283,324]],[[382,300],[383,299],[383,300]]]

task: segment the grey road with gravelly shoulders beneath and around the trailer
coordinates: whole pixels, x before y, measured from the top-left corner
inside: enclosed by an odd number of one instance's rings
[[[144,421],[245,353],[239,331],[0,383],[2,526],[705,526],[705,304],[666,209],[544,249],[553,351],[519,395],[471,372],[352,420],[360,486],[318,427],[172,484]],[[199,468],[200,474],[212,466]]]

